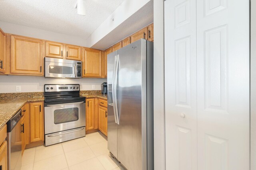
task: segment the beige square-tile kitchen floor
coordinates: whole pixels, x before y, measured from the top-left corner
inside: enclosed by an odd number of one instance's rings
[[[107,140],[99,133],[44,147],[26,149],[22,170],[124,170],[113,159]]]

